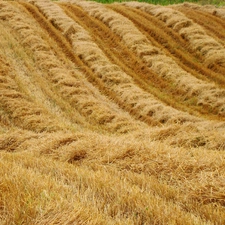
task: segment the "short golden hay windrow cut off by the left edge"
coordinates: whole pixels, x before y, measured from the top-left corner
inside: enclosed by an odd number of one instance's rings
[[[29,99],[19,88],[13,77],[15,71],[0,55],[0,103],[3,121],[12,122],[14,126],[35,132],[53,132],[63,127],[52,119],[40,105]],[[1,116],[2,117],[2,116]]]

